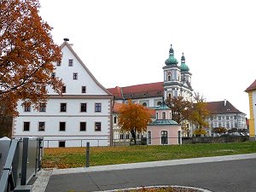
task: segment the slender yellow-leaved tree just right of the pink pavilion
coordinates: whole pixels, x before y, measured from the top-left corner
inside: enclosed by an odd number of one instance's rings
[[[208,126],[206,119],[210,114],[210,112],[207,109],[207,103],[205,102],[203,96],[201,96],[199,93],[195,93],[193,99],[194,102],[190,119],[192,123],[196,125],[194,134],[206,134],[206,131],[203,128]]]

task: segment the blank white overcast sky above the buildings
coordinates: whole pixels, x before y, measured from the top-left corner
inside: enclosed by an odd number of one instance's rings
[[[207,102],[231,102],[249,118],[244,91],[256,79],[255,0],[41,0],[39,15],[106,88],[164,79],[172,44]]]

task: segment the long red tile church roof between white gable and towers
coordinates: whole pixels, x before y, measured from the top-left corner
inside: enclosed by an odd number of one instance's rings
[[[164,96],[163,82],[151,84],[136,84],[127,87],[114,87],[107,89],[116,99],[137,99]]]

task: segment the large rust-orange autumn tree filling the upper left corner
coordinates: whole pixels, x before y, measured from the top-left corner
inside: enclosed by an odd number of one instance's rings
[[[0,1],[0,116],[18,115],[19,100],[38,109],[48,88],[61,94],[61,79],[52,77],[61,49],[39,8],[38,0]]]

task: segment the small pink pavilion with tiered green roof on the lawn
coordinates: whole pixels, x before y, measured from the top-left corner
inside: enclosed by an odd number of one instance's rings
[[[171,109],[165,102],[155,109],[156,119],[147,127],[148,145],[181,144],[181,125],[172,120]]]

